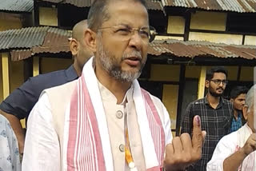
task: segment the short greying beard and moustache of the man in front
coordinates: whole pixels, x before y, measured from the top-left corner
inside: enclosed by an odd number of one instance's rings
[[[133,82],[142,74],[142,69],[145,66],[146,59],[144,61],[142,60],[142,55],[139,51],[134,50],[129,54],[123,54],[122,59],[118,61],[118,59],[115,58],[114,55],[111,55],[110,52],[104,50],[102,42],[99,41],[98,52],[102,68],[106,70],[110,74],[110,76],[112,76],[116,80],[119,80],[121,82]],[[122,70],[121,62],[129,57],[137,57],[140,60],[141,68],[137,72]]]

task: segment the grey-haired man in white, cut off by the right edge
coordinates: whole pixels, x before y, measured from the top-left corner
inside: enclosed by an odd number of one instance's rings
[[[208,171],[256,170],[255,93],[256,85],[246,94],[246,106],[243,109],[244,117],[247,119],[246,125],[222,137],[207,164]]]

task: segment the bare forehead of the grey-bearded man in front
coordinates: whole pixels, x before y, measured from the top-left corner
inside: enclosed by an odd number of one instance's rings
[[[148,26],[146,7],[134,0],[110,1],[107,5],[109,19],[102,25],[126,24],[133,27]]]

